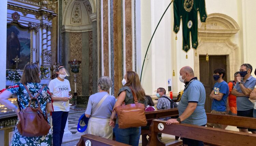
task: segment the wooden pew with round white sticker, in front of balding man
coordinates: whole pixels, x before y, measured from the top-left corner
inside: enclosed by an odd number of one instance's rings
[[[163,124],[162,130],[158,129],[159,123]],[[153,120],[150,129],[150,141],[147,146],[165,146],[165,144],[157,138],[158,132],[170,135],[179,135],[183,138],[195,139],[220,146],[254,146],[256,144],[256,134],[197,125],[166,125],[166,121]]]

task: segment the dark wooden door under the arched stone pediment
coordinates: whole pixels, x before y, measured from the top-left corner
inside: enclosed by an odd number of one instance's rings
[[[205,59],[205,55],[199,56],[199,72],[200,72],[200,81],[204,84],[206,100],[205,100],[205,111],[211,112],[212,99],[209,95],[212,92],[213,85],[216,81],[213,79],[213,71],[217,68],[223,68],[227,71],[227,61],[226,56],[209,56],[209,61]],[[226,72],[227,73],[227,72]],[[227,74],[224,77],[224,80],[227,81]]]

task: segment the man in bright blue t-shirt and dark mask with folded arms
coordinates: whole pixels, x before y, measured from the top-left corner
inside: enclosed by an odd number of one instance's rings
[[[210,98],[213,99],[212,101],[212,111],[211,113],[214,114],[228,114],[229,111],[227,111],[228,103],[228,93],[229,93],[229,87],[226,81],[223,80],[223,77],[225,76],[226,71],[222,68],[215,69],[213,78],[217,81],[217,83],[214,84],[212,93],[210,94]],[[213,124],[213,123],[207,123],[207,127],[214,127],[214,128],[223,128],[225,129],[226,126],[221,124]]]

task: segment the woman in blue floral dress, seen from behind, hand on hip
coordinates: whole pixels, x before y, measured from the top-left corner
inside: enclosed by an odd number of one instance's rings
[[[14,104],[12,104],[8,98],[12,97],[13,94],[17,95],[17,99],[19,101],[20,109],[25,109],[28,107],[30,97],[24,87],[23,84],[25,84],[31,94],[33,96],[36,96],[39,90],[42,88],[42,85],[40,84],[41,80],[39,78],[39,67],[35,63],[29,62],[23,71],[22,78],[20,79],[20,83],[14,84],[14,86],[9,87],[5,91],[3,91],[0,94],[0,103],[5,105],[9,109],[13,109],[13,111],[16,112],[18,116],[18,121],[16,124],[19,123],[19,108],[16,107]],[[51,103],[51,96],[50,92],[48,91],[48,87],[44,87],[40,95],[37,97],[41,109],[45,113],[45,108],[47,112],[51,112],[52,110],[52,103]],[[31,107],[37,108],[38,104],[37,102],[34,104],[31,104]],[[48,118],[49,123],[49,118]],[[51,146],[52,145],[52,129],[49,130],[47,135],[44,136],[35,136],[35,137],[26,137],[20,135],[19,131],[17,130],[17,127],[15,127],[14,135],[12,139],[12,146]]]

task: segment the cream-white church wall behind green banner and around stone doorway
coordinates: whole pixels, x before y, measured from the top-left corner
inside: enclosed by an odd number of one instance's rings
[[[141,65],[147,49],[148,42],[161,18],[162,13],[170,3],[169,0],[142,0],[141,1]],[[230,40],[238,45],[240,64],[250,63],[253,72],[256,68],[256,1],[255,0],[205,0],[208,15],[212,13],[225,14],[234,19],[240,31],[233,35]],[[155,94],[154,90],[158,87],[167,89],[167,79],[172,78],[172,91],[178,93],[184,88],[184,84],[179,81],[179,71],[183,66],[194,68],[194,49],[187,53],[182,51],[182,32],[177,34],[175,40],[173,33],[173,5],[163,17],[158,30],[152,40],[148,51],[149,59],[145,60],[142,74],[142,85],[146,94]],[[151,17],[152,16],[152,17]],[[172,50],[172,48],[174,50]],[[174,52],[174,54],[173,54]],[[173,62],[174,60],[174,62]],[[174,66],[173,66],[174,64]],[[175,76],[172,71],[175,70]],[[238,68],[239,70],[239,68]]]

